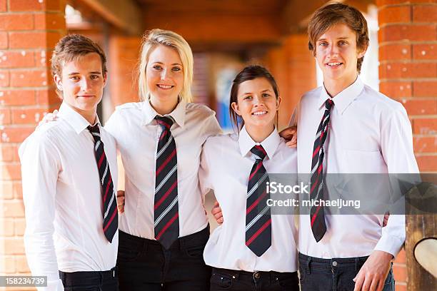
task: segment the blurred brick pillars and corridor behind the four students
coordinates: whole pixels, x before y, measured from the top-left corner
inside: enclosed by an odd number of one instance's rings
[[[84,34],[106,52],[109,84],[99,106],[103,122],[115,106],[139,100],[141,36],[159,28],[176,31],[191,45],[195,101],[213,108],[225,131],[231,129],[228,98],[236,73],[248,63],[266,66],[283,98],[278,116],[282,129],[300,96],[321,85],[321,73],[308,51],[306,26],[313,11],[326,2],[0,0],[0,275],[29,273],[17,149],[42,116],[60,104],[49,60],[62,36]],[[421,172],[436,173],[437,1],[341,2],[356,6],[368,21],[371,46],[361,78],[403,103]],[[212,201],[207,199],[208,212]],[[418,266],[412,253],[418,240],[436,237],[436,220],[434,215],[430,223],[410,225],[408,231],[415,235],[408,235],[406,252],[394,263],[396,290],[435,290],[436,278]]]

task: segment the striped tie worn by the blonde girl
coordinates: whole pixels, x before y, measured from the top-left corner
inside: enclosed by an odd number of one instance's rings
[[[155,119],[162,128],[156,149],[155,238],[168,250],[179,238],[178,158],[170,131],[173,120],[161,116]]]

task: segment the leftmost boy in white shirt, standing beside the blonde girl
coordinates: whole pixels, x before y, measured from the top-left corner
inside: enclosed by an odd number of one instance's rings
[[[65,36],[51,71],[63,101],[58,118],[19,149],[29,267],[47,276],[39,290],[118,290],[116,144],[96,114],[106,57],[91,39]]]

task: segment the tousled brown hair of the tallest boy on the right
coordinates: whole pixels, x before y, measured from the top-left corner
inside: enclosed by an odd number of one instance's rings
[[[356,47],[364,50],[368,46],[367,21],[358,9],[342,4],[333,3],[322,6],[314,12],[308,24],[308,48],[316,56],[316,41],[332,26],[343,23],[346,24],[356,34]],[[361,71],[364,56],[358,58],[356,69]]]

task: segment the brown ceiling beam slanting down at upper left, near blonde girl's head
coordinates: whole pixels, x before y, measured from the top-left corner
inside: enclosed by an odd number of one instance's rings
[[[134,0],[76,0],[94,10],[102,18],[127,34],[141,35],[143,20],[141,6]]]

